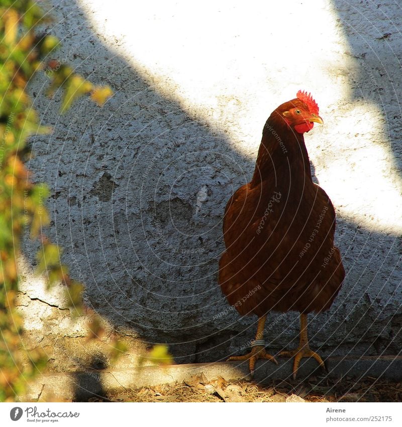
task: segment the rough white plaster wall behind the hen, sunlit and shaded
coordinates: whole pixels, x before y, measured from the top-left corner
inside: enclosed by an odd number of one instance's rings
[[[60,95],[44,96],[45,76],[32,82],[35,107],[54,127],[33,140],[29,162],[52,189],[47,234],[85,283],[86,303],[110,331],[134,338],[134,353],[142,339],[169,343],[178,362],[239,352],[256,319],[230,310],[217,285],[224,206],[252,175],[270,112],[307,89],[326,122],[306,135],[312,170],[337,208],[347,271],[331,310],[310,316],[311,346],[323,355],[397,354],[400,8],[241,3],[129,13],[124,2],[53,1],[58,58],[115,95],[102,109],[83,99],[59,116]],[[28,264],[33,253],[27,241]],[[85,335],[59,310],[57,292],[27,277],[22,306],[35,343]],[[270,314],[269,346],[294,345],[297,330],[296,313]]]

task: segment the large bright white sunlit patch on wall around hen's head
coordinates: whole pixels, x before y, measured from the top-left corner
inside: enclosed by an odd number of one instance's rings
[[[389,172],[383,117],[376,106],[351,101],[348,77],[358,64],[346,55],[350,48],[329,0],[265,7],[240,0],[79,3],[100,39],[155,90],[225,131],[249,159],[271,111],[298,89],[311,91],[326,123],[306,137],[320,184],[351,220],[402,230],[402,185]]]

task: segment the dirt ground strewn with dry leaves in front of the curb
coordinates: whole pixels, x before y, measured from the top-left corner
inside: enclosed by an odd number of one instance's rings
[[[91,402],[400,402],[402,383],[372,377],[359,382],[310,377],[300,381],[247,381],[228,383],[218,377],[208,381],[202,374],[189,381],[125,390],[116,395],[90,398]]]

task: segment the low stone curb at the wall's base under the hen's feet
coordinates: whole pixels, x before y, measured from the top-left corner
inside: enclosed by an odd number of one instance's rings
[[[311,375],[327,375],[331,378],[352,377],[358,381],[363,377],[402,380],[402,356],[377,357],[333,357],[326,360],[328,373],[325,374],[312,359],[304,359],[300,364],[297,380]],[[273,379],[286,380],[291,376],[292,360],[280,359],[279,365],[272,362],[257,362],[255,380],[259,383]],[[172,384],[188,380],[192,375],[204,373],[212,380],[217,376],[227,381],[250,380],[248,363],[215,362],[202,364],[172,365],[165,368],[145,366],[127,370],[84,371],[52,373],[41,375],[31,384],[26,396],[21,400],[60,401],[86,400],[94,395],[121,393],[128,389],[160,384]]]

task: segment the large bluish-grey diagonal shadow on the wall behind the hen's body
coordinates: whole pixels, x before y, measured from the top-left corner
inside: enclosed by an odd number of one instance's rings
[[[343,2],[335,4],[347,21]],[[173,92],[155,90],[151,75],[92,33],[78,5],[62,3],[56,16],[60,21],[48,31],[62,40],[58,56],[115,93],[102,109],[81,100],[60,117],[59,95],[45,97],[45,76],[33,82],[35,107],[44,123],[55,125],[49,139],[35,139],[37,156],[29,168],[53,190],[48,234],[65,248],[71,276],[85,284],[86,303],[124,334],[168,343],[179,363],[221,360],[244,350],[256,318],[230,309],[217,270],[224,207],[250,180],[256,153],[246,158],[225,129],[190,114]],[[355,41],[360,46],[352,32],[348,37],[352,49]],[[363,91],[379,103],[382,98],[367,88],[365,69],[354,96]],[[283,101],[272,99],[269,105],[273,109]],[[384,114],[388,119],[390,111]],[[391,140],[395,148],[396,134]],[[347,277],[332,309],[311,316],[312,348],[327,355],[399,353],[396,237],[338,216],[337,243]],[[30,244],[27,253],[34,253]],[[297,330],[296,313],[271,314],[268,345],[277,350],[292,345]]]

